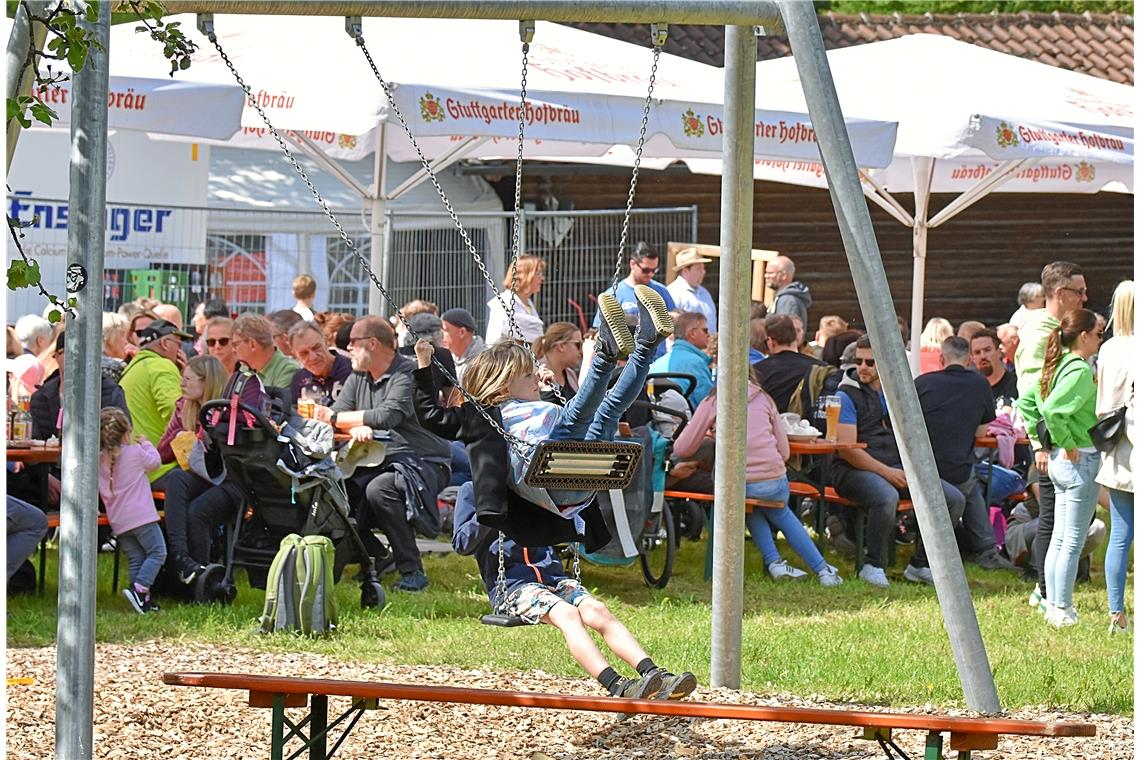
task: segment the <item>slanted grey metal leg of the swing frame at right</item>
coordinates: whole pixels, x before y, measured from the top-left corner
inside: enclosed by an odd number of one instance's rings
[[[922,420],[922,409],[903,353],[903,341],[898,333],[887,273],[882,267],[882,255],[860,188],[855,156],[844,128],[839,98],[836,96],[831,67],[820,34],[820,22],[812,3],[780,0],[779,5],[796,68],[804,84],[812,124],[819,137],[820,155],[828,174],[831,201],[836,206],[836,218],[852,268],[852,278],[855,280],[855,291],[874,345],[895,440],[898,442],[919,528],[929,554],[935,591],[942,606],[966,704],[971,710],[994,714],[1001,711],[1001,702],[997,700],[970,588],[966,582],[962,558],[958,554],[954,530],[950,524],[938,469],[930,450],[930,439]]]

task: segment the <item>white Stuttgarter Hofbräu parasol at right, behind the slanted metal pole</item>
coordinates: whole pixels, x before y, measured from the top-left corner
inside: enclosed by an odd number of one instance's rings
[[[862,177],[866,196],[914,230],[912,335],[922,328],[928,229],[993,191],[1132,191],[1131,87],[933,34],[831,50],[828,60],[846,117],[898,123],[895,160]],[[756,81],[759,105],[804,108],[791,58],[757,64]],[[719,173],[719,162],[686,163]],[[826,187],[817,162],[760,160],[755,175]],[[897,193],[914,194],[914,214]],[[931,216],[931,193],[958,197]]]

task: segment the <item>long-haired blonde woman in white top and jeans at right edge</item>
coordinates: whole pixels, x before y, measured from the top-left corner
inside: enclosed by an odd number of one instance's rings
[[[1126,634],[1131,628],[1124,611],[1124,581],[1132,550],[1133,500],[1132,442],[1135,440],[1135,335],[1132,280],[1124,280],[1113,294],[1113,337],[1097,354],[1097,415],[1126,407],[1124,434],[1112,451],[1105,452],[1097,482],[1108,489],[1112,533],[1105,551],[1105,585],[1108,587],[1108,632]]]

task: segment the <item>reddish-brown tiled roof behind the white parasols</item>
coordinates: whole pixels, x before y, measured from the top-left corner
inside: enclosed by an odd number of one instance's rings
[[[606,36],[648,46],[649,30],[630,24],[572,24]],[[1123,14],[825,14],[820,30],[828,49],[890,40],[905,34],[945,34],[955,40],[1040,60],[1100,79],[1134,84],[1133,18]],[[715,66],[724,65],[724,27],[674,25],[665,51]],[[760,38],[757,57],[791,54],[788,40]]]

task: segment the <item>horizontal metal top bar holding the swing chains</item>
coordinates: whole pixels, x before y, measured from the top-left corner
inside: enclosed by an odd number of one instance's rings
[[[249,14],[272,16],[388,16],[626,24],[760,25],[783,28],[771,0],[168,0],[168,14]]]

